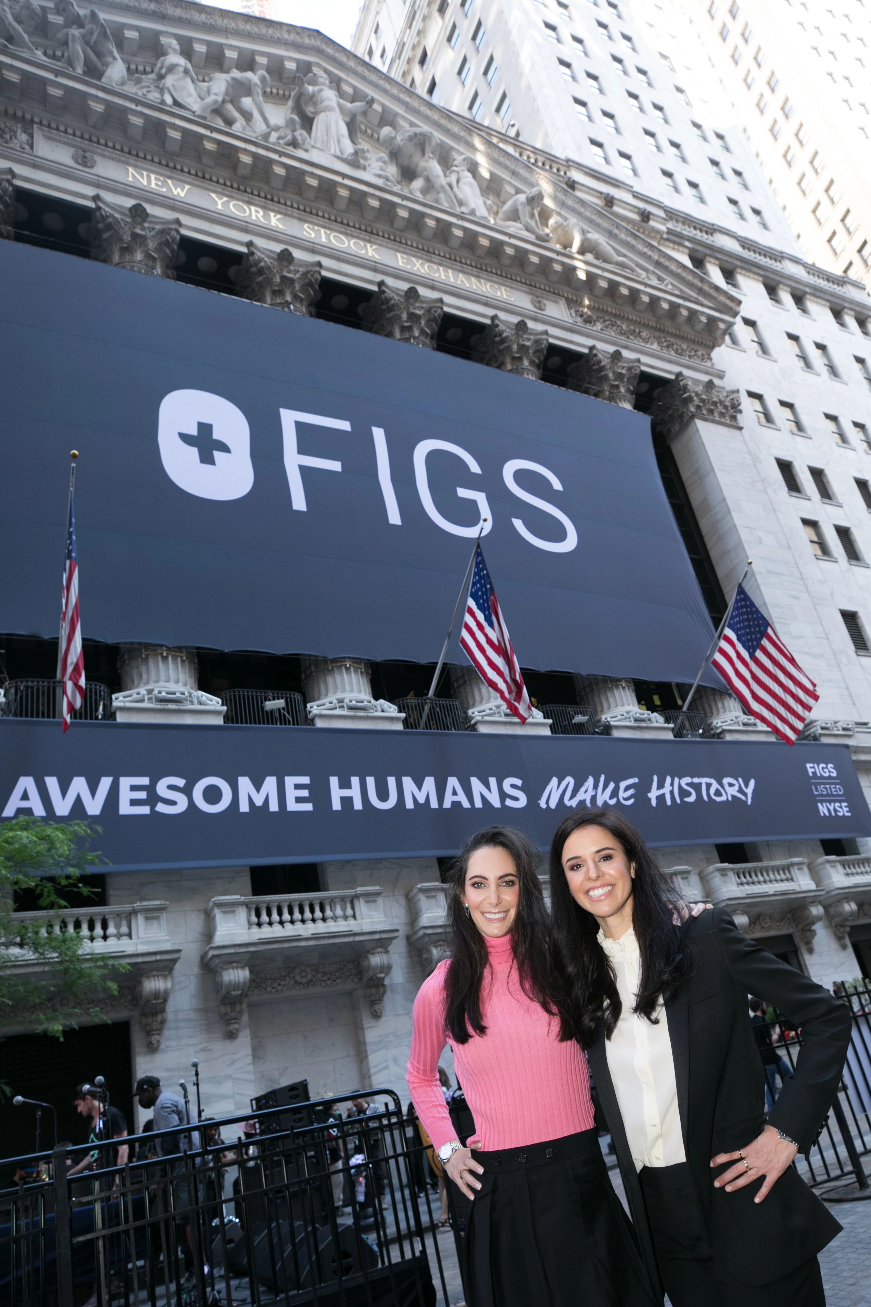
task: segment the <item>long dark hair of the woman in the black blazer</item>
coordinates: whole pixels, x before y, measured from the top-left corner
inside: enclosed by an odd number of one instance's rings
[[[682,916],[683,899],[659,870],[639,831],[619,813],[593,809],[572,813],[554,835],[550,853],[551,920],[559,965],[568,984],[568,1002],[573,1035],[584,1048],[595,1038],[599,1019],[610,1039],[620,1019],[623,1004],[616,988],[614,968],[605,949],[597,942],[599,923],[572,898],[563,870],[565,840],[582,826],[602,826],[623,848],[635,865],[632,881],[632,928],[641,954],[639,993],[633,1012],[656,1021],[659,996],[673,999],[692,974],[695,950]]]

